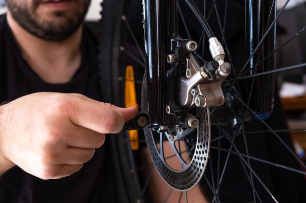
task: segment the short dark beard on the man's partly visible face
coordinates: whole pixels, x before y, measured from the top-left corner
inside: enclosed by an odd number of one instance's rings
[[[90,0],[86,2],[81,0],[84,2],[82,12],[77,11],[71,16],[66,16],[65,12],[58,11],[53,12],[53,19],[40,20],[35,15],[40,2],[40,0],[33,0],[31,6],[26,7],[17,5],[13,0],[7,0],[7,8],[23,29],[36,37],[49,41],[62,41],[70,37],[83,23],[90,4]]]

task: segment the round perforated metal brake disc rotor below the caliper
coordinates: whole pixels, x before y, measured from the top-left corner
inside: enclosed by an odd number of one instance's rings
[[[145,77],[144,77],[145,78]],[[147,83],[146,79],[143,81],[141,107],[143,110],[148,109],[147,99]],[[170,133],[157,133],[152,129],[144,129],[147,147],[150,151],[154,166],[157,168],[159,174],[164,181],[172,188],[179,191],[187,191],[192,189],[202,178],[205,168],[208,163],[209,149],[210,149],[210,119],[208,108],[197,108],[197,119],[199,125],[196,129],[181,130],[174,137],[171,138]],[[184,140],[190,133],[196,133],[197,142],[189,150],[191,160],[189,164],[186,163],[182,155],[175,147],[175,141]],[[167,137],[167,141],[163,141],[163,137]],[[155,138],[155,139],[154,139]],[[160,146],[157,147],[155,140],[159,138]],[[173,155],[180,161],[182,168],[180,170],[174,169],[166,163],[167,157],[164,156],[164,142],[169,142],[173,149]]]

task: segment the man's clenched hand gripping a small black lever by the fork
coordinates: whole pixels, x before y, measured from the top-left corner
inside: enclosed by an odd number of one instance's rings
[[[0,175],[17,165],[41,179],[80,170],[136,115],[81,94],[40,92],[0,107]]]

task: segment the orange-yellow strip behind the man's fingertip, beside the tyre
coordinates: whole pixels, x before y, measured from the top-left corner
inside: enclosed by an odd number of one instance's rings
[[[134,68],[132,66],[126,67],[125,72],[125,106],[136,107],[138,109],[138,104],[136,100],[136,89],[135,89],[135,78],[134,78]],[[130,130],[130,143],[132,150],[138,150],[139,142],[138,142],[138,130]]]

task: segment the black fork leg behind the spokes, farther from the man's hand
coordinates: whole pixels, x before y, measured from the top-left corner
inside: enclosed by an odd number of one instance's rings
[[[276,0],[246,0],[245,1],[246,15],[246,44],[247,55],[249,58],[256,46],[259,44],[266,30],[276,17]],[[263,58],[275,50],[276,23],[262,44],[262,49],[257,51],[249,63],[249,74],[266,72],[276,68],[275,55],[262,61]],[[252,84],[254,83],[254,84]],[[249,87],[253,85],[251,99],[245,96],[245,101],[250,101],[250,107],[258,113],[262,118],[267,118],[274,106],[274,90],[275,90],[275,74],[267,74],[264,76],[255,77],[254,81],[247,84]]]

